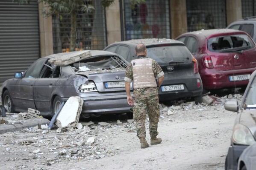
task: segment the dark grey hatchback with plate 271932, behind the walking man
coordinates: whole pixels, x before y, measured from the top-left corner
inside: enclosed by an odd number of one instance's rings
[[[135,46],[138,43],[146,45],[147,57],[156,60],[165,73],[159,87],[160,101],[192,98],[196,104],[202,102],[203,86],[197,60],[184,43],[165,38],[137,39],[115,42],[103,50],[115,52],[130,62],[137,58]]]

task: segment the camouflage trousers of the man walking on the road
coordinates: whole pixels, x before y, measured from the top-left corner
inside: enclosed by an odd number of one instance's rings
[[[138,138],[146,137],[145,120],[147,113],[149,118],[149,134],[151,138],[154,138],[158,135],[157,124],[160,116],[158,95],[134,98],[133,118],[136,121]]]

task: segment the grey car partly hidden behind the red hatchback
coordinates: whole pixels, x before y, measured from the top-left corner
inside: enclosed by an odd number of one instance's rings
[[[227,26],[227,28],[247,32],[253,38],[253,41],[256,42],[256,16],[236,20]]]

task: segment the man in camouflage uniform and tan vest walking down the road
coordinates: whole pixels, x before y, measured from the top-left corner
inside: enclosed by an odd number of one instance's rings
[[[138,44],[135,48],[138,58],[131,61],[127,67],[124,80],[127,93],[127,102],[133,107],[133,118],[136,121],[137,136],[141,142],[141,148],[149,147],[146,141],[145,119],[149,117],[150,144],[160,144],[157,124],[159,121],[159,98],[158,87],[164,80],[164,72],[159,64],[147,58],[147,49],[144,44]],[[156,78],[158,81],[156,82]],[[133,81],[133,97],[130,95],[130,83]]]

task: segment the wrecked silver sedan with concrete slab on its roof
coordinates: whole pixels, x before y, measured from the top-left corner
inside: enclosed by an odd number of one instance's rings
[[[49,55],[3,83],[2,103],[7,112],[32,108],[53,116],[63,101],[79,96],[84,101],[84,118],[129,113],[124,82],[127,64],[121,56],[99,50]]]

